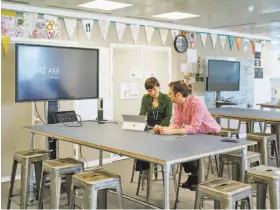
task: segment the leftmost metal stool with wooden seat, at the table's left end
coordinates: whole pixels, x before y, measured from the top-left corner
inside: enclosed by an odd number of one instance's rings
[[[34,164],[35,176],[36,176],[36,188],[38,192],[39,184],[40,184],[40,176],[42,171],[42,163],[43,160],[47,160],[48,157],[49,157],[48,151],[40,150],[40,149],[18,151],[14,154],[14,163],[13,163],[12,174],[11,174],[7,209],[11,208],[15,177],[17,172],[17,164],[21,163],[21,190],[20,190],[19,205],[21,209],[26,209],[31,164]]]

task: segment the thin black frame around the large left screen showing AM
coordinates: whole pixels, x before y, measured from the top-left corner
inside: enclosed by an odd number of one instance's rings
[[[39,102],[39,101],[59,101],[59,100],[85,100],[85,99],[98,99],[99,98],[99,49],[98,48],[87,48],[87,47],[75,47],[75,46],[63,46],[63,45],[45,45],[45,44],[26,44],[26,43],[16,43],[15,44],[15,102]],[[49,47],[49,48],[66,48],[66,49],[77,49],[86,51],[96,51],[97,52],[97,96],[96,97],[65,97],[65,98],[40,98],[40,99],[24,99],[19,100],[18,98],[18,82],[19,82],[19,47],[20,46],[32,46],[32,47]]]

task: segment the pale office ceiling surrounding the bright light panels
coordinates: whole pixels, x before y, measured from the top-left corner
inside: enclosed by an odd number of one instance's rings
[[[162,20],[152,17],[161,13],[187,12],[200,17],[169,22],[269,36],[274,42],[280,42],[280,0],[114,0],[134,5],[114,11],[77,7],[78,4],[89,1],[91,0],[7,0],[6,2],[87,10],[150,20]],[[254,11],[248,12],[247,8],[251,5],[254,6]]]

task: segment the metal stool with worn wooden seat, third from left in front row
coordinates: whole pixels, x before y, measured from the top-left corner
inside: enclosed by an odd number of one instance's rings
[[[97,208],[97,194],[99,190],[115,188],[118,195],[119,207],[123,209],[122,187],[119,175],[109,173],[105,170],[94,170],[84,173],[75,174],[72,177],[70,209],[74,209],[74,194],[76,188],[84,190],[84,208]]]

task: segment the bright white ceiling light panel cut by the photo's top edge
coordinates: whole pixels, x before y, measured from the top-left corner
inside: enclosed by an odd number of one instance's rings
[[[132,5],[133,4],[119,3],[115,1],[95,0],[85,4],[79,4],[78,7],[85,7],[89,9],[100,9],[100,10],[115,10],[115,9],[130,7]]]

